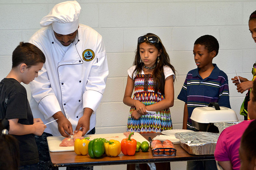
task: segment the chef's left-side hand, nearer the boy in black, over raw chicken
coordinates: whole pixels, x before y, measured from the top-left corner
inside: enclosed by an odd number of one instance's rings
[[[71,138],[70,135],[73,135],[73,128],[72,124],[69,122],[69,120],[63,115],[61,111],[58,111],[54,115],[52,115],[56,122],[58,123],[58,130],[62,136],[65,138]]]

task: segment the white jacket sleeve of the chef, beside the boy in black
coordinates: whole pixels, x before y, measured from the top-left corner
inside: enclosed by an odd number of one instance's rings
[[[45,65],[38,72],[38,77],[29,83],[32,97],[38,103],[38,109],[43,113],[45,120],[61,111],[60,104],[55,96]]]

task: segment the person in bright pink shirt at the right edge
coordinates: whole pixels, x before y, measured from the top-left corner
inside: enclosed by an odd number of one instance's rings
[[[256,119],[256,81],[253,81],[252,90],[250,93],[248,114],[252,120],[245,120],[239,124],[230,126],[224,129],[220,134],[214,152],[214,157],[224,170],[240,169],[240,139],[245,129],[249,126],[253,119]]]

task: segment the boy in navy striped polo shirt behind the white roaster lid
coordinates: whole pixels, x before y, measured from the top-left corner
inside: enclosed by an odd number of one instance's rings
[[[231,108],[228,76],[212,63],[218,52],[218,40],[211,35],[201,36],[194,43],[193,54],[197,68],[188,72],[178,96],[178,99],[185,102],[183,129],[196,130],[190,119],[196,107],[217,102],[220,106]]]

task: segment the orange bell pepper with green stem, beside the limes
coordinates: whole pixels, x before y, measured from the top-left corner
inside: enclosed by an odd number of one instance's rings
[[[128,138],[124,138],[121,141],[121,151],[124,155],[132,156],[135,154],[137,148],[137,141],[135,139],[131,139],[133,132],[130,133]]]

